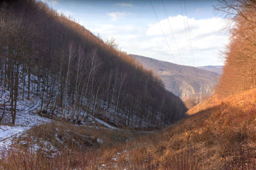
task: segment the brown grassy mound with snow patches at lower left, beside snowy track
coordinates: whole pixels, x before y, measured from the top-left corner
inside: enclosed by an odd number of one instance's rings
[[[135,134],[104,128],[52,122],[15,139],[1,169],[96,169],[120,152],[120,143]],[[97,139],[103,143],[98,143]],[[50,146],[49,146],[50,145]],[[54,150],[52,150],[54,148]],[[56,151],[56,150],[57,151]]]

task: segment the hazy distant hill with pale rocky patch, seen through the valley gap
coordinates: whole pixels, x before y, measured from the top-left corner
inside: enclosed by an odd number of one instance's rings
[[[131,55],[141,62],[147,69],[152,69],[163,80],[164,86],[176,96],[186,97],[200,92],[211,94],[218,82],[219,74],[198,69],[196,67],[181,66],[170,62],[151,59],[140,55]]]

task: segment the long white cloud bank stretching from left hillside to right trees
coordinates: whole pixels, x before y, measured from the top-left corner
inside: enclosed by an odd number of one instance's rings
[[[184,29],[184,21],[187,19],[195,65],[190,54],[188,38]],[[118,46],[127,53],[190,66],[223,64],[219,54],[220,50],[224,50],[225,45],[228,43],[228,35],[220,30],[225,27],[227,21],[218,17],[196,20],[195,18],[187,18],[181,15],[169,17],[169,21],[179,52],[173,41],[167,18],[161,20],[160,24],[172,53],[168,49],[158,23],[149,25],[97,24],[88,27],[88,29],[92,32],[99,32],[104,40],[115,38]]]

